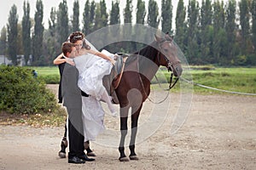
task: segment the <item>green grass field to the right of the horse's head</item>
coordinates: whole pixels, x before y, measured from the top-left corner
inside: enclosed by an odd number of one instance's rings
[[[213,70],[189,70],[193,82],[212,88],[256,94],[256,68],[215,68]],[[195,86],[195,92],[212,92]]]

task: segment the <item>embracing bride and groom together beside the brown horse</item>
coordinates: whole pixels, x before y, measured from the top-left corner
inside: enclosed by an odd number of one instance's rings
[[[89,140],[95,140],[104,130],[104,111],[100,100],[108,104],[113,116],[117,116],[111,97],[102,84],[102,78],[110,73],[115,64],[114,55],[106,50],[98,52],[85,40],[84,34],[77,31],[70,35],[68,42],[62,44],[62,55],[54,61],[55,65],[62,63],[66,63],[60,85],[63,105],[68,114],[68,162],[94,161],[85,155],[84,149],[89,148]],[[90,151],[89,148],[87,154]]]

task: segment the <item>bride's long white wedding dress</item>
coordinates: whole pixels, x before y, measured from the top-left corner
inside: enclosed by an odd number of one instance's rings
[[[113,57],[107,50],[103,54]],[[95,140],[104,127],[105,112],[102,109],[100,99],[106,90],[102,84],[102,78],[110,74],[112,64],[107,59],[102,59],[94,54],[84,54],[74,58],[76,68],[79,70],[79,88],[89,97],[82,97],[82,111],[84,123],[84,142]]]

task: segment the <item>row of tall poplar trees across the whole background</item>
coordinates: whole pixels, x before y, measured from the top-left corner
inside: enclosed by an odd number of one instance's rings
[[[87,0],[84,4],[82,19],[79,18],[79,0],[73,7],[62,0],[58,8],[52,7],[49,16],[49,28],[44,28],[44,4],[37,0],[34,17],[30,16],[30,3],[23,3],[21,22],[15,4],[9,11],[7,26],[3,26],[0,36],[0,54],[6,55],[17,65],[17,54],[24,54],[26,65],[52,65],[52,60],[61,53],[61,43],[67,41],[72,31],[83,31],[85,35],[106,26],[131,23],[158,28],[170,32],[178,47],[191,65],[256,65],[256,0],[189,0],[187,6],[183,0],[177,3],[176,17],[173,19],[172,0],[161,0],[161,8],[155,0],[126,0],[125,8],[119,8],[119,0],[112,1],[108,12],[106,1],[96,3]],[[68,8],[73,8],[69,17]],[[132,16],[132,11],[136,16]],[[81,20],[81,22],[80,22]],[[175,28],[172,27],[175,23]],[[134,30],[125,30],[132,36]],[[119,33],[120,34],[120,33]],[[152,35],[153,36],[153,35]],[[108,50],[130,53],[143,44],[119,42],[109,45]],[[30,58],[32,56],[32,58]]]

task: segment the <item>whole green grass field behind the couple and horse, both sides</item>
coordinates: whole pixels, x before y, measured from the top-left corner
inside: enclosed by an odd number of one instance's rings
[[[59,70],[57,66],[52,67],[31,67],[38,71],[38,77],[44,77],[47,83],[58,83]],[[207,68],[207,69],[205,69]],[[165,77],[164,77],[165,75]],[[159,82],[166,82],[166,77],[170,77],[170,72],[164,70],[157,74]],[[220,88],[229,91],[241,93],[256,94],[256,68],[216,68],[207,66],[190,66],[184,68],[183,76],[190,81],[200,83],[212,88]],[[154,79],[152,83],[156,83],[154,88],[157,88],[158,82]],[[167,85],[165,85],[167,87]],[[179,86],[173,88],[174,92],[179,90]],[[219,93],[212,89],[200,88],[194,86],[195,93]],[[223,94],[223,93],[220,93]]]

